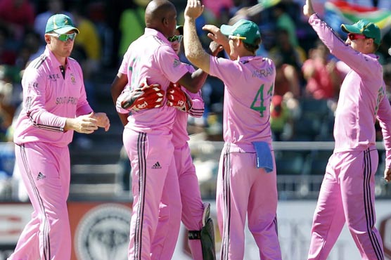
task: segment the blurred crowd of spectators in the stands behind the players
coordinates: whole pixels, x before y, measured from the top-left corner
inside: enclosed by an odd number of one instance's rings
[[[391,8],[389,0],[346,1],[361,6]],[[69,15],[80,30],[72,57],[82,65],[87,96],[96,107],[94,76],[114,72],[114,78],[127,47],[143,34],[148,2],[0,0],[0,141],[12,141],[13,117],[18,113],[21,101],[20,79],[29,61],[43,52],[44,27],[53,13]],[[172,2],[177,6],[177,19],[181,24],[186,1]],[[278,4],[274,4],[276,2]],[[325,2],[316,1],[319,15],[323,15]],[[203,4],[205,11],[197,22],[198,34],[205,48],[210,41],[202,30],[205,24],[219,26],[247,18],[259,25],[262,47],[258,54],[272,58],[277,70],[271,108],[274,140],[332,140],[333,110],[338,101],[340,83],[347,71],[345,65],[316,40],[314,31],[302,15],[304,0],[203,0]],[[346,35],[341,37],[345,39]],[[385,82],[391,87],[391,59],[387,54],[390,44],[391,32],[388,31],[383,35],[378,56],[384,65]],[[184,55],[180,58],[186,62]],[[205,117],[198,120],[191,118],[189,126],[194,127],[189,129],[193,132],[207,131],[210,136],[219,139],[222,131],[222,82],[209,77],[203,86],[203,98]]]

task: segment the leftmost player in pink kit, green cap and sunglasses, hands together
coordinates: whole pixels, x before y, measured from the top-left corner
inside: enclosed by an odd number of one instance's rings
[[[70,260],[68,144],[74,131],[91,134],[110,127],[105,113],[91,109],[82,69],[69,57],[78,33],[67,15],[52,15],[46,23],[46,49],[23,74],[23,109],[13,141],[34,212],[8,260]]]

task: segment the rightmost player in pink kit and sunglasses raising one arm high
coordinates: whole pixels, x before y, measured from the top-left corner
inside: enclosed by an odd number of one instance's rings
[[[385,95],[383,68],[375,55],[380,29],[359,20],[341,25],[342,41],[314,12],[307,0],[303,13],[331,53],[350,67],[340,87],[335,112],[335,148],[326,166],[314,212],[308,259],[327,259],[342,227],[347,227],[361,259],[384,259],[376,229],[375,173],[378,168],[375,122],[382,128],[386,158],[384,177],[391,177],[391,106]]]

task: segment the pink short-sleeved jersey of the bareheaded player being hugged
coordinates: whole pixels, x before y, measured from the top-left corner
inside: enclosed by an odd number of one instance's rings
[[[161,32],[146,28],[145,33],[127,49],[119,72],[127,74],[127,88],[134,89],[146,80],[148,84],[160,84],[166,91],[169,82],[178,82],[188,69]],[[125,127],[144,132],[152,129],[167,131],[172,129],[176,112],[167,105],[132,112]]]

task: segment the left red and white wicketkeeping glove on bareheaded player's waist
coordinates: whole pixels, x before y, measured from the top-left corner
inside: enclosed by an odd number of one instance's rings
[[[159,84],[141,83],[139,88],[129,91],[123,98],[119,98],[121,108],[138,111],[141,109],[160,108],[163,105],[165,91]]]

